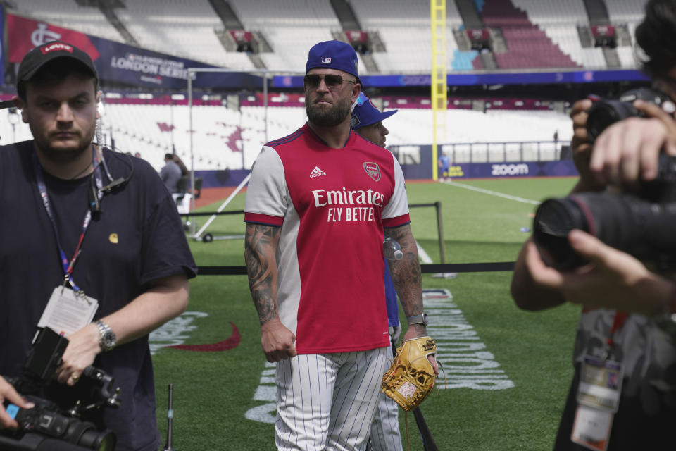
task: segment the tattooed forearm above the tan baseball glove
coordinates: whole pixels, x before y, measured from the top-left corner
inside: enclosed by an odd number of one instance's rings
[[[394,282],[394,289],[399,295],[399,302],[406,316],[423,313],[423,276],[420,272],[418,247],[415,244],[411,226],[408,224],[395,228],[387,228],[385,234],[399,242],[403,258],[399,261],[388,261],[389,273]]]

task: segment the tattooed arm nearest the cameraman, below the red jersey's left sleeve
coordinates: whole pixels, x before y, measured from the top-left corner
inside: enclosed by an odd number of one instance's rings
[[[244,261],[249,276],[249,290],[258,311],[258,321],[265,324],[277,318],[277,261],[275,251],[280,227],[246,224]]]

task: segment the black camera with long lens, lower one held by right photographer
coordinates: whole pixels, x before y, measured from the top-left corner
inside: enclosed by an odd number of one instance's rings
[[[676,157],[663,155],[656,180],[636,192],[581,192],[538,207],[533,239],[545,264],[570,270],[586,264],[568,244],[584,230],[658,271],[676,268]]]

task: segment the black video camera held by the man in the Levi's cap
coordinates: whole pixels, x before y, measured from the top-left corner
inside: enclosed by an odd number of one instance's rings
[[[14,451],[113,451],[115,434],[105,429],[99,431],[93,423],[82,421],[80,416],[91,409],[119,407],[119,388],[113,388],[113,378],[93,366],[82,372],[80,383],[92,387],[94,402],[61,409],[55,402],[39,393],[54,378],[61,366],[61,356],[68,345],[64,338],[50,328],[43,328],[36,336],[17,378],[6,378],[27,400],[35,404],[31,409],[21,409],[5,403],[6,412],[19,424],[16,431],[0,431],[0,450]]]

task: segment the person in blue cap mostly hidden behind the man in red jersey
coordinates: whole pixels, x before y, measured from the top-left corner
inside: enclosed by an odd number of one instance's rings
[[[366,97],[363,92],[359,93],[357,101],[352,109],[350,125],[352,130],[361,137],[366,138],[380,147],[385,147],[385,136],[389,130],[382,124],[384,119],[389,118],[397,110],[380,112],[373,104],[373,101]],[[385,304],[387,305],[387,322],[389,324],[389,335],[393,343],[399,340],[401,335],[401,326],[399,324],[399,309],[396,304],[396,290],[392,277],[389,275],[389,266],[385,259]],[[388,351],[388,358],[394,358],[392,349]],[[399,431],[399,406],[380,393],[378,407],[375,411],[373,424],[371,424],[370,448],[369,451],[401,451],[401,432]]]

